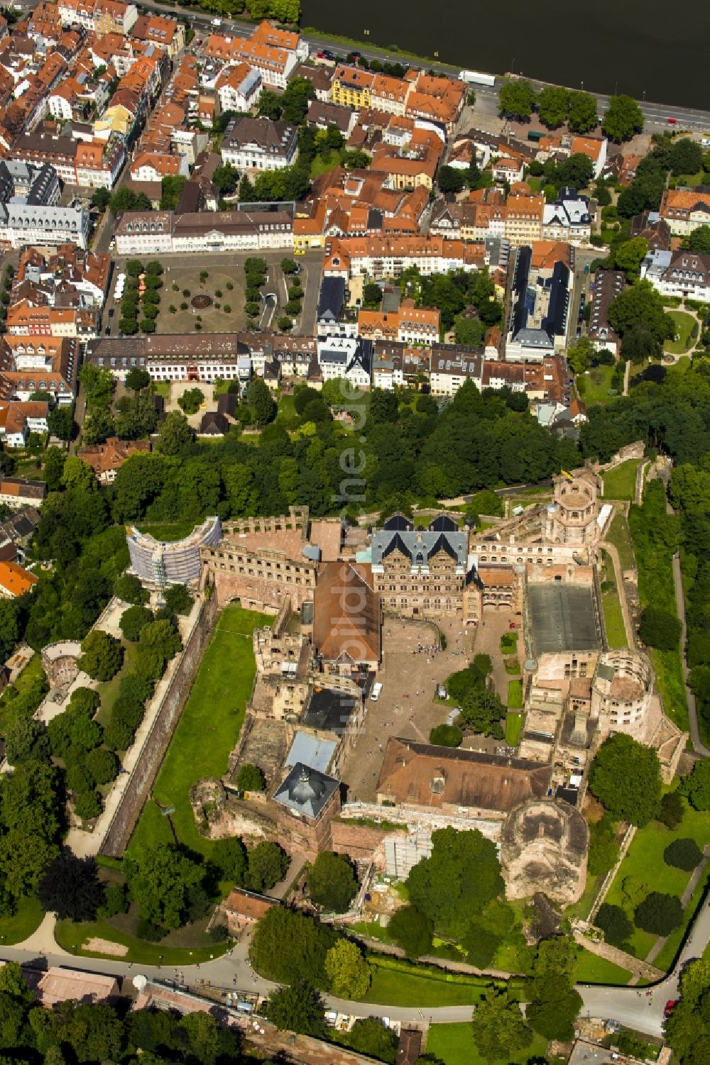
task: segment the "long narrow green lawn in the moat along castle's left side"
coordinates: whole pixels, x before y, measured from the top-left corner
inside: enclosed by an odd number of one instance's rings
[[[211,843],[197,831],[190,788],[205,776],[219,777],[227,771],[256,672],[252,633],[272,621],[237,605],[222,611],[154,785],[155,799],[162,806],[175,807],[172,818],[180,842],[203,854],[209,853]],[[157,807],[148,804],[131,848],[155,839],[156,834],[167,839],[170,828]]]

